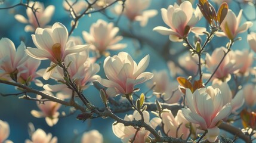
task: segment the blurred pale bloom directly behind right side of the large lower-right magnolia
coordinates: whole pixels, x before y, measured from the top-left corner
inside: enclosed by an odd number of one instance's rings
[[[236,110],[242,107],[243,103],[245,102],[245,98],[243,97],[243,91],[238,91],[238,93],[233,97],[227,82],[214,83],[214,85],[212,85],[212,88],[220,89],[223,105],[226,105],[230,102],[230,105],[232,107],[232,113],[236,113]]]

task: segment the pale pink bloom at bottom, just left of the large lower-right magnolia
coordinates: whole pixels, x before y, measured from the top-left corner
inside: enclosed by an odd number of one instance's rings
[[[174,138],[180,138],[182,136],[183,139],[187,139],[189,136],[189,128],[186,127],[186,124],[189,123],[189,121],[185,119],[181,110],[178,110],[174,118],[170,110],[164,109],[161,117],[164,123],[164,132],[168,136]]]

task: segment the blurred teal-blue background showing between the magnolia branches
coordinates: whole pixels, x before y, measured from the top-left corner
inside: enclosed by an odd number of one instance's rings
[[[0,5],[0,8],[10,7],[11,5],[18,4],[20,0],[5,0]],[[25,1],[24,1],[25,2]],[[70,30],[70,21],[72,18],[70,14],[64,10],[63,8],[63,1],[62,0],[41,0],[39,2],[44,3],[45,7],[48,5],[55,6],[55,12],[53,18],[51,19],[49,25],[54,24],[55,22],[63,23],[68,30]],[[149,22],[147,23],[146,27],[140,27],[138,22],[132,23],[132,29],[134,31],[133,35],[131,36],[129,29],[129,20],[122,16],[121,20],[118,23],[118,27],[120,28],[120,32],[118,35],[123,35],[124,39],[120,43],[127,43],[128,46],[121,51],[126,51],[131,54],[132,58],[135,61],[140,61],[145,55],[150,54],[150,65],[146,71],[152,70],[168,70],[170,73],[170,79],[175,80],[177,74],[174,74],[177,69],[173,67],[172,69],[168,68],[167,62],[172,61],[174,63],[178,62],[178,58],[182,57],[184,54],[189,53],[188,50],[184,50],[185,48],[180,43],[174,43],[169,41],[168,36],[160,35],[157,32],[153,32],[152,29],[156,26],[166,26],[164,21],[161,17],[161,8],[167,8],[168,5],[174,4],[176,1],[171,0],[152,0],[149,10],[154,9],[158,10],[158,15],[156,17],[150,18]],[[195,1],[194,8],[196,8]],[[214,7],[217,8],[217,4],[212,2]],[[238,4],[235,1],[231,1],[230,9],[232,9],[236,15],[238,15],[240,8],[243,9],[243,18],[241,23],[248,21],[252,21],[255,23],[255,7],[248,4]],[[73,31],[72,36],[81,36],[82,38],[82,31],[89,31],[90,26],[92,23],[95,23],[98,19],[103,19],[106,21],[113,21],[117,20],[117,16],[112,13],[111,8],[108,8],[106,13],[109,17],[113,17],[113,19],[107,18],[105,15],[101,13],[91,14],[89,17],[85,15],[84,17],[79,20],[78,27]],[[21,14],[26,16],[26,8],[19,6],[15,8],[11,8],[8,10],[0,10],[0,38],[9,38],[11,41],[14,42],[16,47],[20,44],[20,41],[24,41],[26,46],[35,47],[33,45],[31,35],[33,33],[24,32],[24,26],[26,24],[18,22],[15,18],[15,14]],[[202,18],[199,21],[198,26],[206,26],[209,30],[209,26],[206,23],[205,19]],[[248,30],[249,32],[256,32],[256,26],[251,27]],[[242,41],[236,42],[233,46],[233,49],[246,49],[249,48],[249,45],[246,41],[246,36],[248,33],[239,34],[242,37]],[[138,38],[143,39],[143,41],[138,41]],[[193,38],[193,34],[190,34],[190,39]],[[205,39],[205,36],[202,36],[202,39]],[[229,42],[227,38],[218,38],[214,37],[212,42],[209,44],[207,52],[210,52],[213,48],[217,48],[220,46],[225,46],[226,43]],[[166,47],[166,44],[168,45]],[[0,47],[1,48],[1,47]],[[118,54],[120,51],[111,51],[110,55]],[[166,56],[166,53],[168,56]],[[103,63],[104,57],[101,57],[98,60],[98,63]],[[50,64],[49,61],[45,60],[42,61],[41,67],[47,67]],[[254,64],[255,65],[255,64]],[[104,71],[101,64],[101,70],[98,75],[104,77]],[[172,74],[172,76],[171,76]],[[44,83],[54,84],[53,80],[47,80],[41,78]],[[32,85],[38,90],[43,90],[42,88],[38,88],[37,86]],[[137,86],[141,90],[138,93],[146,92],[148,88],[146,84]],[[0,92],[2,94],[14,94],[18,91],[9,85],[0,84]],[[90,88],[84,91],[85,95],[91,100],[91,102],[99,107],[103,107],[101,104],[101,100],[98,94],[97,89],[94,86],[90,86]],[[31,94],[32,97],[35,95]],[[118,98],[116,98],[118,100]],[[154,101],[154,99],[152,99]],[[27,101],[23,99],[18,99],[16,96],[10,97],[2,97],[0,96],[0,120],[6,121],[10,125],[10,139],[13,142],[24,142],[26,139],[29,139],[29,133],[27,132],[27,125],[28,123],[33,123],[36,129],[41,128],[46,133],[52,133],[53,136],[58,137],[58,142],[81,142],[82,133],[97,129],[100,133],[103,134],[104,142],[121,142],[119,138],[117,138],[112,132],[112,123],[114,120],[112,119],[94,119],[94,120],[86,120],[82,122],[81,120],[76,120],[76,116],[79,114],[79,111],[76,111],[75,114],[71,116],[67,116],[61,118],[57,125],[50,127],[45,122],[44,118],[38,119],[30,114],[31,110],[39,110],[36,102],[34,101]],[[66,114],[69,114],[69,107],[61,107],[60,111],[66,111]],[[125,114],[132,114],[132,111],[123,114],[117,114],[119,117],[124,118]],[[152,115],[153,117],[153,115]]]

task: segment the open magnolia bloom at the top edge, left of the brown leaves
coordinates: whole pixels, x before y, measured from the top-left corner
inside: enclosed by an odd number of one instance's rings
[[[184,1],[180,6],[178,4],[169,5],[168,9],[161,9],[162,18],[170,29],[158,26],[153,30],[162,35],[169,35],[169,39],[174,42],[181,42],[190,30],[193,33],[202,35],[206,29],[202,27],[194,27],[202,18],[202,13],[197,7],[193,12],[192,4],[189,1]]]

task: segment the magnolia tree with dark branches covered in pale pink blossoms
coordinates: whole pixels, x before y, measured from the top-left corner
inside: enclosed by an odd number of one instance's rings
[[[154,2],[163,4],[161,9],[150,6],[150,0],[58,1],[70,26],[58,21],[49,24],[58,14],[54,5],[1,2],[2,11],[24,8],[26,14],[13,17],[24,26],[20,30],[32,33],[18,46],[8,37],[1,38],[0,83],[16,87],[1,95],[36,103],[38,108],[31,108],[30,113],[45,118],[48,126],[54,128],[58,121],[74,115],[73,120],[100,124],[112,119],[104,128],[112,128],[119,142],[254,142],[256,18],[243,9],[252,7],[255,13],[255,1]],[[90,30],[78,31],[82,38],[74,36],[79,21],[95,18],[94,13],[104,20],[84,24]],[[150,33],[168,37],[161,50],[150,44],[150,35],[135,30],[153,24],[153,17],[161,17],[162,26],[154,25]],[[120,28],[122,23],[128,23],[125,29]],[[240,38],[239,33],[246,36]],[[223,37],[218,41],[229,42],[214,46],[216,36]],[[241,41],[246,45],[234,50]],[[26,46],[29,42],[32,47]],[[135,52],[124,52],[134,47]],[[169,70],[147,70],[150,60],[155,61],[143,54],[149,47],[164,58]],[[138,54],[143,58],[137,62]],[[46,67],[40,66],[43,60],[49,61]],[[88,93],[90,88],[97,92]],[[101,100],[92,102],[92,96]],[[0,142],[12,142],[8,136],[16,131],[10,126],[8,120],[0,120]],[[81,133],[79,142],[107,142],[105,134],[90,129]],[[24,142],[63,138],[35,129],[32,123],[29,136]]]

